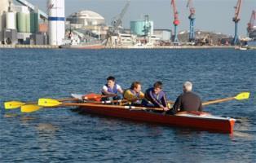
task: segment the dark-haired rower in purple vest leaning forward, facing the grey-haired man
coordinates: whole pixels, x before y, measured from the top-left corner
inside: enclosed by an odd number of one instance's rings
[[[166,94],[162,90],[161,81],[157,81],[152,88],[146,90],[142,104],[144,107],[151,108],[163,108],[164,111],[168,111]]]

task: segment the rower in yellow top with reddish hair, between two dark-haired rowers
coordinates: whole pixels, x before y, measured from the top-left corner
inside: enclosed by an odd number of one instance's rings
[[[128,99],[131,105],[141,105],[141,99],[144,98],[144,94],[141,91],[141,83],[134,81],[130,89],[124,91],[124,99]]]

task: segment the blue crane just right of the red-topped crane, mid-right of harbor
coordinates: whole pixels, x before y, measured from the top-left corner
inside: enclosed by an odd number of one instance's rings
[[[188,19],[190,20],[190,26],[189,26],[189,42],[195,41],[195,31],[194,31],[194,23],[196,19],[196,10],[193,7],[192,0],[188,0],[187,7],[189,8],[190,15],[188,16]]]

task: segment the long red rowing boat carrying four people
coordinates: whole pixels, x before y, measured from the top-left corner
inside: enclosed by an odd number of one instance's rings
[[[79,99],[80,95],[72,95]],[[139,108],[139,109],[138,109]],[[85,104],[80,110],[86,113],[99,114],[107,117],[118,117],[133,121],[144,121],[167,126],[187,127],[232,134],[235,119],[218,117],[206,112],[179,112],[176,115],[152,112],[151,108],[134,106]]]

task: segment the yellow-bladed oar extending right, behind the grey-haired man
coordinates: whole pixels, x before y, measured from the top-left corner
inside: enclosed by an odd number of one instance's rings
[[[226,101],[231,101],[233,99],[236,99],[236,100],[249,99],[249,92],[241,92],[240,94],[238,94],[234,97],[227,97],[227,98],[224,98],[224,99],[210,100],[210,101],[204,102],[202,105],[205,106],[205,105],[209,105],[209,104],[223,103],[223,102],[226,102]]]

